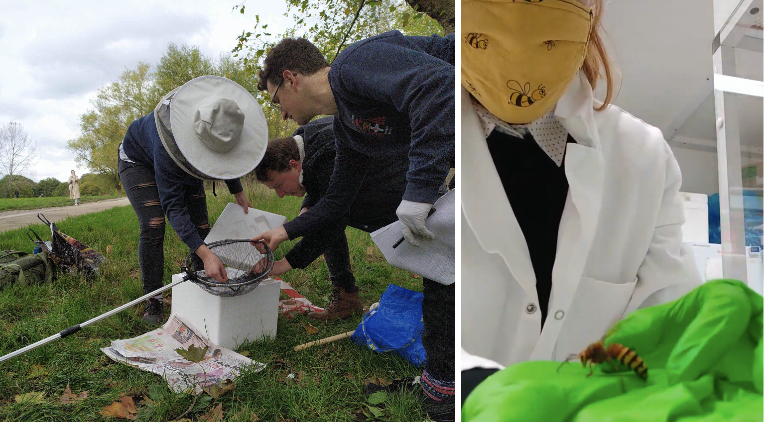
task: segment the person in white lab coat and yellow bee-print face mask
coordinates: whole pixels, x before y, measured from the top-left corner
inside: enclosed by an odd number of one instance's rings
[[[701,283],[672,150],[610,104],[603,3],[462,0],[463,371],[565,360]]]

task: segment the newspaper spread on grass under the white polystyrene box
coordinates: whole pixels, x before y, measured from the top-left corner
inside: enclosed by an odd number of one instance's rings
[[[188,361],[176,348],[208,347],[204,360]],[[244,370],[259,372],[265,363],[210,343],[180,315],[171,315],[161,328],[131,339],[112,341],[101,350],[112,360],[162,376],[174,392],[202,393],[202,386],[224,387]],[[203,370],[202,370],[203,367]],[[206,373],[206,374],[205,374]]]

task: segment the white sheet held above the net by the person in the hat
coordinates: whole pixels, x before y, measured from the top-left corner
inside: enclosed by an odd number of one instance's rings
[[[218,221],[212,225],[212,230],[204,238],[204,242],[209,244],[222,240],[252,239],[285,223],[285,216],[263,212],[257,208],[249,208],[249,213],[245,215],[241,205],[229,202]]]

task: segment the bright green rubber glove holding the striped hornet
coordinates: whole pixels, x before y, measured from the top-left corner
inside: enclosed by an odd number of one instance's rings
[[[704,283],[606,337],[643,358],[646,380],[617,360],[591,377],[578,362],[517,363],[474,389],[462,421],[764,421],[762,310],[739,281]]]

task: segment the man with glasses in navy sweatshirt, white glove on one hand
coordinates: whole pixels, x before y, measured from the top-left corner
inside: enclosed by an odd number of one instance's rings
[[[325,195],[264,240],[275,249],[335,224],[348,213],[374,160],[407,155],[406,189],[396,214],[413,246],[433,239],[425,221],[455,167],[455,37],[389,31],[351,44],[330,65],[304,38],[272,48],[257,89],[267,91],[283,119],[307,124],[334,115],[335,164]],[[419,239],[418,239],[419,238]],[[429,415],[455,416],[455,284],[424,279],[421,377]]]

